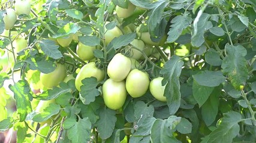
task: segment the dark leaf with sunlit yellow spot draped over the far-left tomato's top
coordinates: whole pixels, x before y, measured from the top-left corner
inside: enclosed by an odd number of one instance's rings
[[[29,57],[25,62],[29,64],[29,69],[39,70],[42,73],[50,73],[56,69],[56,64],[46,60],[46,57]]]

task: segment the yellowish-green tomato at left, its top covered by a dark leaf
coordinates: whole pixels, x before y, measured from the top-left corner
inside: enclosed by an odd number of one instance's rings
[[[44,87],[53,88],[53,86],[58,86],[59,82],[62,82],[66,75],[65,65],[57,63],[56,69],[51,73],[40,74],[40,81]]]

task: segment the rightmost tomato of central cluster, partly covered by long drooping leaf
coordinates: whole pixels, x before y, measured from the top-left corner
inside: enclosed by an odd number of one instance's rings
[[[149,91],[156,98],[156,100],[166,102],[166,97],[164,97],[164,89],[165,86],[162,86],[162,79],[163,77],[157,77],[151,80],[149,84]]]

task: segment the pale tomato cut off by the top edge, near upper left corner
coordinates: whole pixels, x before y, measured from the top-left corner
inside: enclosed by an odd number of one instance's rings
[[[29,15],[31,5],[28,0],[16,0],[15,1],[15,11],[17,15],[26,14]]]

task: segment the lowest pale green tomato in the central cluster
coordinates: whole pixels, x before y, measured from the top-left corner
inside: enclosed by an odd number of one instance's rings
[[[125,99],[127,98],[127,91],[125,89],[125,82],[115,82],[112,79],[107,79],[103,83],[103,99],[107,107],[112,110],[121,108]]]

